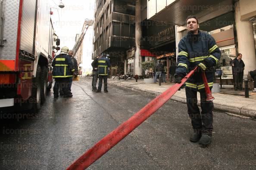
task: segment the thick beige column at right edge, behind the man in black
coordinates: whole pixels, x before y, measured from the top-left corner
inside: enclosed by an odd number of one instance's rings
[[[235,22],[238,42],[238,53],[243,55],[244,76],[248,71],[256,69],[256,55],[253,37],[253,24],[250,21],[241,21],[240,3],[235,3]]]

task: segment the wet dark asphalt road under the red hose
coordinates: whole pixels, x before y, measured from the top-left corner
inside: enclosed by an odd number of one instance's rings
[[[86,78],[72,92],[54,100],[51,91],[36,115],[0,121],[1,170],[65,169],[156,97],[111,85],[94,93]],[[169,100],[89,169],[256,169],[255,120],[214,112],[208,148],[188,140],[190,128],[187,106]]]

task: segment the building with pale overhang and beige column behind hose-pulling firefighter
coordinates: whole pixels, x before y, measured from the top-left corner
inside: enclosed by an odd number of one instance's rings
[[[256,69],[255,0],[148,0],[147,5],[149,19],[176,25],[176,52],[179,41],[187,34],[187,16],[196,15],[200,30],[212,34],[222,52],[217,66],[223,71],[222,78],[233,79],[230,61],[238,53],[245,63],[244,79],[248,71]]]

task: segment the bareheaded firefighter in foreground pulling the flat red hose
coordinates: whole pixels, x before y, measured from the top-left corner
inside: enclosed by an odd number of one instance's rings
[[[206,101],[205,86],[202,72],[205,72],[208,85],[213,85],[213,67],[219,62],[221,52],[211,35],[200,31],[196,16],[187,17],[188,33],[178,44],[178,60],[175,72],[175,82],[181,83],[181,79],[188,72],[198,66],[198,70],[187,79],[185,85],[187,98],[187,112],[190,116],[193,133],[191,142],[199,141],[200,145],[207,146],[212,140],[212,101]],[[200,106],[197,106],[197,91],[200,92]]]

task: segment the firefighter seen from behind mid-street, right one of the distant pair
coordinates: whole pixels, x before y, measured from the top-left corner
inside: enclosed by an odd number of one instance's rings
[[[99,84],[97,93],[101,92],[102,87],[102,80],[104,81],[104,92],[107,93],[108,91],[108,73],[109,73],[110,62],[109,59],[106,58],[106,54],[103,55],[98,59],[98,76],[99,76]]]

